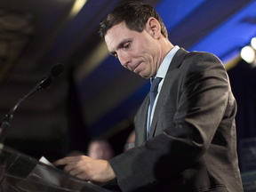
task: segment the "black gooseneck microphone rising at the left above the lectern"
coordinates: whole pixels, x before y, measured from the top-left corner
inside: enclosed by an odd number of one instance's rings
[[[13,113],[16,110],[16,108],[18,108],[20,103],[23,100],[25,100],[26,98],[28,98],[30,95],[32,95],[33,93],[39,91],[40,89],[45,90],[45,89],[49,88],[52,84],[52,77],[60,76],[63,71],[64,71],[63,65],[61,65],[61,64],[54,65],[48,76],[44,76],[44,78],[38,84],[36,84],[34,89],[32,89],[30,92],[28,92],[28,94],[26,94],[23,98],[18,100],[16,105],[10,110],[10,112],[5,116],[4,120],[0,124],[0,143],[3,142],[6,137],[8,128],[12,121]]]

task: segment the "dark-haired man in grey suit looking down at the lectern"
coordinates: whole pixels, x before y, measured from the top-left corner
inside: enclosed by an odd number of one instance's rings
[[[109,161],[80,156],[55,164],[84,180],[116,178],[122,191],[243,191],[236,100],[221,61],[173,46],[156,10],[140,2],[116,7],[100,35],[124,68],[158,80],[156,98],[148,95],[138,110],[135,148]]]

